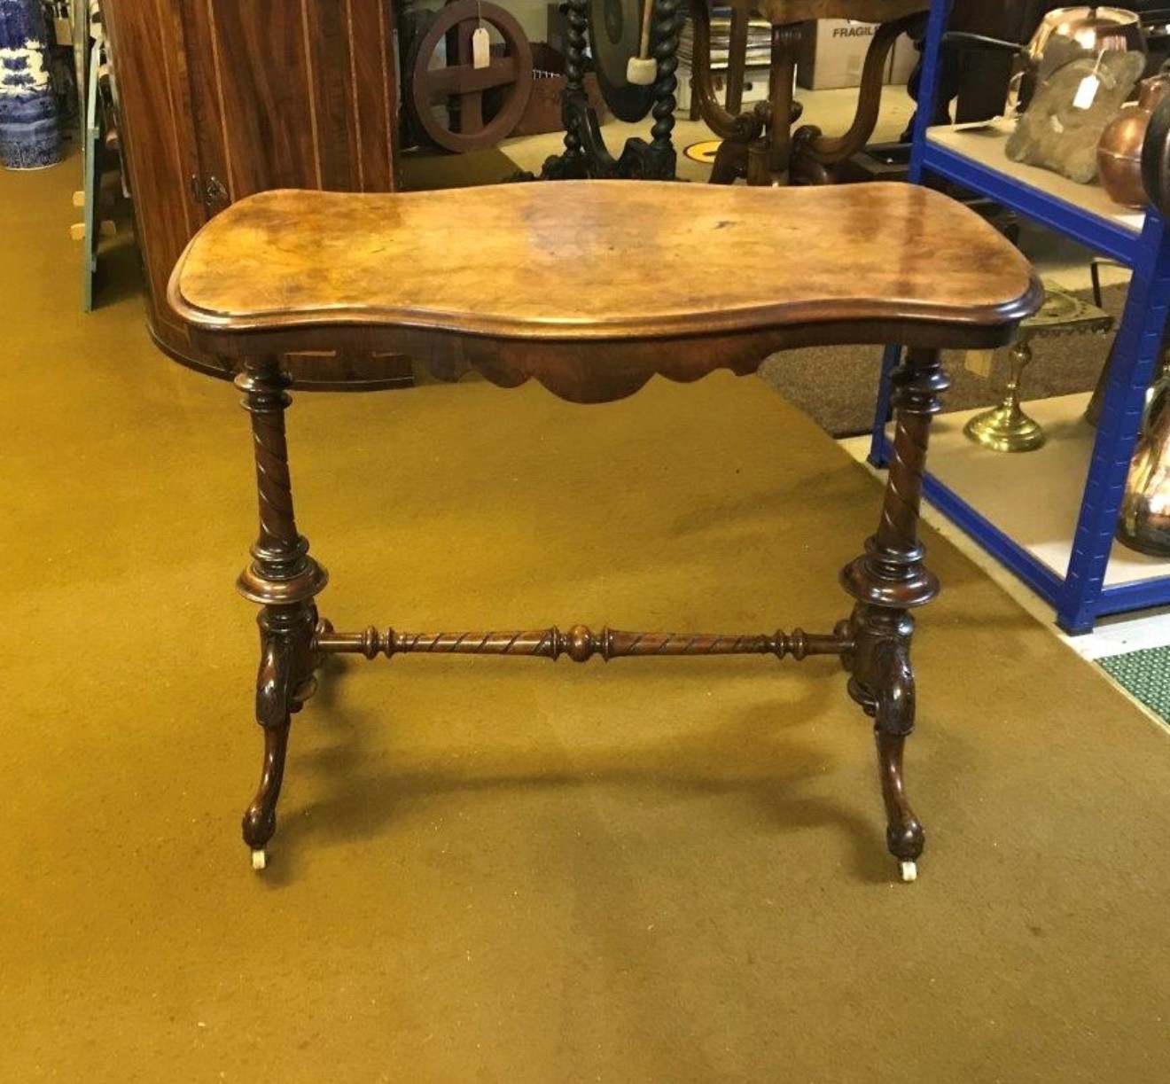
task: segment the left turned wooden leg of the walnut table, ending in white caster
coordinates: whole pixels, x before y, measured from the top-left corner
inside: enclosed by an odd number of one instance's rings
[[[312,600],[329,576],[309,557],[309,543],[297,533],[292,515],[284,439],[290,380],[277,358],[262,357],[249,358],[235,384],[252,415],[260,500],[260,534],[252,546],[252,564],[236,587],[262,607],[256,721],[264,729],[264,760],[256,796],[243,815],[245,842],[252,848],[253,864],[262,868],[264,845],[276,830],[290,717],[312,695],[315,684],[317,608]]]

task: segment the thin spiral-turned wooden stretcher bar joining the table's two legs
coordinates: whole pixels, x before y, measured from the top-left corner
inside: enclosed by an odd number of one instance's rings
[[[360,633],[321,631],[314,640],[315,650],[323,655],[350,654],[374,658],[385,655],[421,653],[427,655],[516,655],[557,660],[567,655],[573,662],[586,662],[594,655],[611,658],[677,657],[711,655],[775,655],[803,660],[810,655],[844,655],[852,650],[848,628],[832,635],[808,635],[801,629],[791,634],[777,631],[763,635],[711,635],[706,633],[624,633],[603,628],[593,631],[574,624],[567,633],[556,626],[545,629],[490,633],[397,633],[379,631],[371,626]]]

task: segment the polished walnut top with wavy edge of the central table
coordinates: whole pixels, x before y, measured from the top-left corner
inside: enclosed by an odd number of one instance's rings
[[[204,227],[170,299],[213,334],[358,324],[580,343],[830,325],[827,341],[856,322],[994,332],[1035,294],[990,226],[913,185],[559,181],[260,193]]]

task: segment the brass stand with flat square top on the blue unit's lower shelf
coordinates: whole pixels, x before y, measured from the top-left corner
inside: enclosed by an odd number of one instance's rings
[[[1103,309],[1061,290],[1048,289],[1040,311],[1020,324],[1019,337],[1011,350],[1011,373],[1003,402],[977,414],[963,427],[963,431],[992,451],[1033,451],[1039,448],[1045,441],[1044,429],[1020,407],[1020,380],[1032,360],[1032,338],[1104,332],[1112,326],[1113,317]]]

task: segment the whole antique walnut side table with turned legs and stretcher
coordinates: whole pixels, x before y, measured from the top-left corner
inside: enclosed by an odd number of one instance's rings
[[[276,826],[290,718],[326,655],[835,655],[849,695],[874,719],[887,843],[903,879],[914,879],[924,836],[903,788],[902,754],[914,726],[910,613],[938,591],[917,520],[930,420],[948,386],[940,351],[1007,343],[1042,297],[1026,261],[976,214],[925,188],[882,184],[268,192],[204,227],[168,296],[202,347],[242,367],[236,385],[252,415],[260,534],[239,588],[261,607],[264,753],[243,817],[256,868]],[[474,368],[503,387],[536,379],[584,403],[629,395],[655,374],[745,374],[778,350],[846,343],[895,343],[906,352],[878,527],[841,572],[852,610],[835,628],[338,631],[318,614],[326,573],[294,518],[289,381],[277,355],[395,350],[436,359],[442,378]]]

